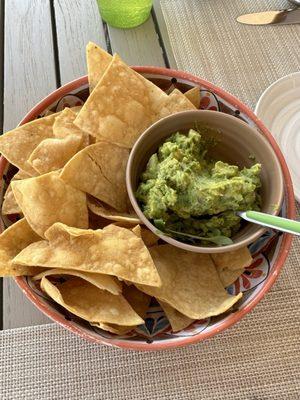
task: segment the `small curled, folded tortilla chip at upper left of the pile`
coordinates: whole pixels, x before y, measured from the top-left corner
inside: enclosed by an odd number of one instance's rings
[[[88,134],[73,124],[75,118],[76,114],[65,108],[53,124],[54,137],[44,139],[31,153],[28,162],[39,174],[62,168],[88,145]]]

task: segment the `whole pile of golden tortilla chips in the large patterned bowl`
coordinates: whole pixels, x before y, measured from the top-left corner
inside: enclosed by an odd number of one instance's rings
[[[125,186],[137,138],[166,115],[199,108],[199,88],[168,95],[93,43],[87,66],[83,107],[0,137],[19,169],[2,204],[19,220],[0,235],[0,276],[33,276],[69,312],[120,335],[144,323],[152,297],[174,332],[229,310],[241,293],[225,287],[251,263],[248,249],[210,256],[161,244]]]

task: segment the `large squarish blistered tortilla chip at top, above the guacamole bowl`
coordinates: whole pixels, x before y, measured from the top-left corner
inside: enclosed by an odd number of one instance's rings
[[[115,55],[75,124],[98,139],[132,147],[160,118],[168,95]]]

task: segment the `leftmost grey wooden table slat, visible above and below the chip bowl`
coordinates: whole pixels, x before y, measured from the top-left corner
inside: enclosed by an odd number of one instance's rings
[[[56,88],[49,1],[6,1],[4,40],[3,127],[7,131]],[[49,321],[13,279],[3,280],[3,296],[4,329]]]

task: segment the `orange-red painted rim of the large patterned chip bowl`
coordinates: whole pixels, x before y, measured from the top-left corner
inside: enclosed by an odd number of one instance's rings
[[[202,87],[207,88],[208,90],[216,93],[219,95],[221,98],[226,100],[228,103],[242,111],[244,114],[248,116],[256,124],[256,126],[260,129],[262,134],[268,139],[269,143],[273,147],[278,160],[280,161],[281,167],[282,167],[282,172],[285,180],[285,199],[287,203],[287,218],[295,218],[296,216],[296,208],[295,208],[295,198],[294,198],[294,192],[293,192],[293,186],[292,186],[292,181],[290,177],[290,173],[287,167],[287,164],[285,162],[285,159],[274,139],[274,137],[271,135],[271,133],[268,131],[268,129],[264,126],[262,121],[260,121],[257,116],[251,111],[246,105],[244,105],[240,100],[238,100],[236,97],[233,95],[227,93],[225,90],[213,85],[212,83],[198,78],[192,74],[189,74],[184,71],[178,71],[178,70],[173,70],[173,69],[167,69],[167,68],[160,68],[160,67],[140,67],[140,66],[133,66],[132,67],[135,71],[141,73],[141,74],[150,74],[150,75],[160,75],[164,77],[169,77],[169,78],[176,78],[180,80],[184,80],[187,83],[194,83],[195,85],[200,85]],[[88,83],[88,78],[87,76],[82,76],[78,79],[75,79],[69,83],[67,83],[64,86],[61,86],[54,92],[50,93],[48,96],[46,96],[42,101],[40,101],[37,105],[35,105],[29,112],[28,114],[22,119],[19,125],[23,125],[32,119],[36,118],[41,112],[43,112],[47,107],[49,107],[51,104],[53,104],[55,101],[60,99],[61,97],[67,95],[68,93],[76,90],[77,88],[84,86]],[[1,156],[0,157],[0,178],[3,178],[3,174],[5,171],[5,168],[8,164],[8,161]],[[175,347],[182,347],[186,346],[189,344],[194,344],[197,342],[200,342],[202,340],[208,339],[217,333],[220,333],[224,331],[225,329],[231,327],[235,323],[237,323],[241,318],[243,318],[246,314],[248,314],[258,303],[259,301],[264,297],[264,295],[270,290],[270,288],[273,286],[275,283],[281,268],[284,265],[284,262],[287,258],[287,255],[289,253],[289,250],[291,248],[292,244],[292,235],[289,234],[284,234],[282,238],[282,242],[280,245],[280,250],[278,253],[278,257],[274,263],[274,267],[272,269],[272,272],[268,276],[264,286],[262,289],[256,294],[256,296],[253,297],[253,299],[242,309],[236,311],[235,313],[229,315],[226,320],[224,320],[222,323],[218,324],[215,328],[212,327],[212,329],[209,332],[200,332],[199,334],[193,336],[193,337],[185,337],[181,338],[180,340],[177,340],[176,343],[173,342],[153,342],[151,344],[148,343],[139,343],[137,342],[128,342],[126,340],[114,340],[111,341],[109,338],[96,338],[92,335],[90,335],[87,331],[73,325],[71,321],[67,321],[62,315],[59,315],[52,310],[49,309],[49,307],[41,302],[39,297],[32,292],[30,287],[26,284],[26,282],[22,279],[22,277],[16,277],[15,281],[20,287],[20,289],[23,291],[23,293],[27,296],[27,298],[40,310],[42,311],[45,315],[47,315],[49,318],[51,318],[53,321],[57,322],[58,324],[62,325],[64,328],[70,330],[71,332],[81,336],[82,338],[93,342],[93,343],[101,343],[101,344],[106,344],[109,346],[115,346],[115,347],[120,347],[124,349],[130,349],[130,350],[165,350],[165,349],[170,349],[170,348],[175,348]]]

